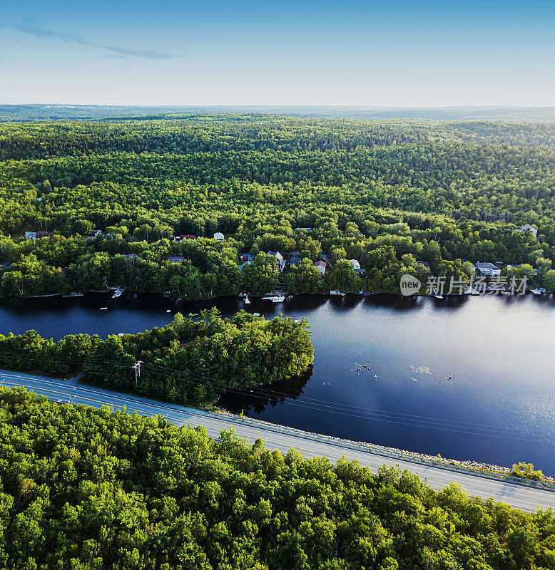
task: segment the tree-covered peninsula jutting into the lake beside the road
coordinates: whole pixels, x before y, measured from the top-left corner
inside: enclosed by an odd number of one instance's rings
[[[312,365],[308,323],[281,316],[265,321],[245,311],[221,318],[177,314],[163,328],[108,336],[72,334],[57,343],[36,331],[0,334],[0,368],[67,376],[181,404],[209,404],[233,388],[291,378]],[[136,378],[133,364],[142,361]]]

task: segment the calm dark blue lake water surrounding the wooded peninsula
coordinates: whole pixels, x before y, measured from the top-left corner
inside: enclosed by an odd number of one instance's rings
[[[224,316],[244,308],[235,298],[210,304]],[[4,301],[0,332],[136,333],[210,304],[102,295]],[[443,457],[526,460],[555,474],[554,296],[301,296],[279,306],[253,301],[248,310],[307,317],[314,368],[253,393],[225,394],[223,408]]]

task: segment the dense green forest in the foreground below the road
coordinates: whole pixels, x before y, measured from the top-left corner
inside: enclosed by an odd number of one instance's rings
[[[6,570],[551,570],[553,512],[24,390],[0,393]]]

